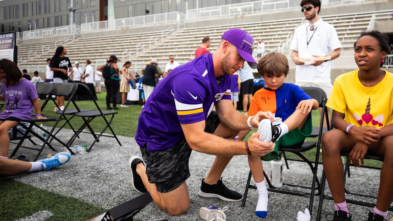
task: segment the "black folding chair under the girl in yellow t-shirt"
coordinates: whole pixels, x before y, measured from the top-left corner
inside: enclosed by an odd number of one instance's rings
[[[346,177],[348,174],[348,177],[350,177],[349,175],[349,166],[353,166],[353,164],[349,164],[349,153],[345,152],[345,153],[341,153],[342,157],[346,158],[345,161],[345,166],[344,166],[344,191],[347,194],[351,194],[351,195],[356,195],[356,196],[360,196],[360,199],[364,199],[365,197],[368,198],[372,198],[372,199],[376,199],[376,196],[373,195],[364,195],[364,194],[359,194],[359,193],[355,193],[355,192],[350,192],[349,190],[347,190],[347,188],[345,188],[345,182],[346,182]],[[366,154],[364,156],[365,159],[369,159],[369,160],[379,160],[381,162],[384,162],[384,157],[380,157],[377,155],[373,155],[373,154]],[[372,169],[381,169],[381,168],[377,168],[377,167],[373,167],[373,166],[362,166],[362,168],[372,168]],[[318,214],[317,214],[317,219],[316,220],[321,220],[321,213],[322,213],[322,206],[323,206],[323,200],[324,199],[329,199],[329,200],[333,200],[332,196],[326,195],[324,194],[325,192],[325,183],[326,183],[326,176],[325,176],[325,171],[322,170],[322,178],[321,178],[321,195],[320,195],[320,202],[318,205]],[[370,203],[370,202],[366,202],[366,201],[360,201],[360,200],[352,200],[352,199],[345,199],[345,201],[347,203],[351,203],[351,204],[356,204],[356,205],[360,205],[360,206],[368,206],[368,207],[374,207],[376,204],[375,203]],[[393,211],[393,206],[390,206],[388,208],[389,211]]]

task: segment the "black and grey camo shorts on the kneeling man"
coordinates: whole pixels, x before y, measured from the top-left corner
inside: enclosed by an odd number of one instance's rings
[[[211,112],[205,122],[205,132],[214,133],[220,124],[217,112]],[[191,150],[185,136],[165,150],[149,152],[147,151],[147,143],[141,148],[143,161],[146,163],[147,178],[150,183],[156,184],[158,192],[171,192],[190,177],[188,160]]]

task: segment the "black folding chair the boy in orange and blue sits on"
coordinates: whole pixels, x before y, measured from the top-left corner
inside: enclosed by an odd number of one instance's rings
[[[323,133],[323,120],[325,118],[325,112],[326,112],[326,93],[317,87],[302,87],[302,89],[311,97],[314,98],[318,101],[319,106],[322,108],[322,114],[321,114],[321,120],[320,120],[320,127],[318,130],[318,141],[317,142],[304,142],[304,144],[302,146],[290,146],[290,147],[279,147],[279,151],[281,153],[285,153],[285,152],[290,152],[290,153],[294,153],[296,155],[298,155],[302,160],[296,160],[296,159],[286,159],[285,163],[288,164],[287,160],[295,160],[295,161],[304,161],[306,162],[312,173],[312,183],[310,183],[310,186],[301,186],[301,185],[297,185],[297,184],[288,184],[288,183],[283,183],[283,187],[281,188],[275,188],[274,186],[272,186],[272,184],[270,183],[270,180],[268,179],[268,176],[266,175],[265,172],[263,172],[263,175],[265,177],[265,182],[267,182],[269,188],[268,191],[270,192],[277,192],[277,193],[285,193],[285,194],[290,194],[290,195],[297,195],[297,196],[302,196],[302,197],[307,197],[310,198],[310,202],[309,202],[309,211],[310,214],[312,213],[312,204],[314,202],[314,195],[315,194],[315,189],[318,188],[318,193],[320,192],[320,183],[319,180],[317,179],[317,169],[318,169],[318,160],[319,160],[319,155],[320,155],[320,147],[321,147],[321,140],[322,140],[322,133]],[[302,153],[305,151],[309,151],[310,149],[313,149],[314,147],[317,147],[316,150],[316,156],[315,156],[315,161],[311,162],[309,159],[307,159]],[[313,165],[314,163],[314,165]],[[247,179],[247,184],[246,184],[246,190],[244,191],[244,196],[243,196],[243,201],[242,201],[242,207],[245,206],[246,203],[246,198],[247,198],[247,194],[248,194],[248,189],[256,189],[255,186],[250,185],[250,181],[251,181],[251,170],[250,173],[248,174],[248,179]],[[300,189],[305,189],[306,191],[295,191],[295,190],[290,190],[285,188],[285,186],[288,187],[298,187]]]

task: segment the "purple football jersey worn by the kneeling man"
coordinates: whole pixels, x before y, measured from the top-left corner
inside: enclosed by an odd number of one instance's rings
[[[184,136],[180,124],[204,121],[216,101],[231,99],[230,84],[229,76],[215,78],[211,54],[174,68],[146,101],[136,142],[148,142],[148,151],[168,149]]]

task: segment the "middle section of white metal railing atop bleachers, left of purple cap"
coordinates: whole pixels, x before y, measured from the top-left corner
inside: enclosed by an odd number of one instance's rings
[[[154,15],[144,15],[138,17],[119,18],[115,20],[84,23],[81,25],[81,31],[99,31],[104,29],[125,28],[171,21],[180,22],[180,20],[183,20],[184,18],[184,13],[174,11]]]

